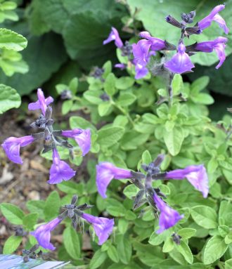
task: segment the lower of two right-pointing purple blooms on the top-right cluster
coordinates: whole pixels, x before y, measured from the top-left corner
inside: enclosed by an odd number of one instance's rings
[[[218,69],[219,67],[221,67],[221,65],[224,63],[224,60],[226,59],[225,48],[227,41],[228,39],[226,39],[226,37],[218,37],[217,39],[214,39],[212,41],[200,42],[195,46],[195,48],[198,51],[206,53],[210,53],[214,50],[219,58],[219,64],[216,66],[216,69]]]

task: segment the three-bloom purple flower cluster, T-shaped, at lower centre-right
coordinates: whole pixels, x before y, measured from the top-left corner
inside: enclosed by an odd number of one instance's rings
[[[195,189],[202,192],[203,197],[207,197],[209,192],[205,166],[202,164],[191,165],[187,166],[185,169],[161,172],[160,164],[163,159],[163,155],[158,155],[154,162],[149,165],[143,164],[141,167],[144,171],[146,171],[146,174],[118,168],[110,162],[102,162],[96,166],[96,185],[98,193],[103,198],[106,198],[107,187],[113,178],[129,178],[131,183],[139,188],[139,191],[134,198],[134,209],[137,209],[148,202],[148,204],[153,207],[155,214],[157,211],[160,211],[160,228],[157,230],[157,233],[163,232],[164,230],[174,226],[179,220],[181,220],[181,218],[183,218],[183,215],[180,215],[176,210],[166,204],[163,200],[165,195],[160,192],[159,188],[152,187],[153,180],[183,180],[184,178],[187,178],[188,182],[191,183]],[[145,197],[145,199],[143,197]]]

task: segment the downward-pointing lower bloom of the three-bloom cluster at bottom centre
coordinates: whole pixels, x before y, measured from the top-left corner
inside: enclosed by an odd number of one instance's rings
[[[169,229],[183,218],[183,215],[180,215],[176,210],[169,207],[159,196],[155,194],[153,198],[157,209],[160,210],[160,229],[157,230],[156,233],[161,233],[164,230]]]

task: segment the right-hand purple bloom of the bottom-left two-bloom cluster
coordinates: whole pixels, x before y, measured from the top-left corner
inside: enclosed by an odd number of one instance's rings
[[[94,230],[98,237],[98,244],[101,246],[112,233],[115,221],[110,218],[98,218],[90,214],[82,214],[82,218],[91,223],[94,226]]]

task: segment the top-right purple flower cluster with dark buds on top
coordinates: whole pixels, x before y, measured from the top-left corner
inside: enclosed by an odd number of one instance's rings
[[[195,11],[191,11],[188,14],[182,13],[181,22],[173,18],[171,15],[168,15],[166,21],[174,27],[181,29],[181,38],[179,39],[177,48],[173,44],[169,44],[167,41],[151,37],[148,32],[141,32],[140,37],[143,39],[133,45],[134,61],[138,63],[141,66],[141,70],[143,70],[141,76],[147,74],[148,70],[146,66],[149,63],[150,56],[154,55],[155,51],[177,51],[170,60],[167,60],[166,63],[164,63],[165,68],[171,73],[182,74],[184,72],[193,72],[192,68],[194,65],[191,62],[190,56],[198,52],[211,53],[212,51],[215,51],[219,58],[219,64],[216,68],[218,69],[221,67],[226,58],[224,50],[227,39],[225,37],[218,37],[212,41],[204,41],[189,46],[185,46],[183,40],[185,37],[189,38],[191,34],[201,34],[205,28],[210,27],[212,21],[217,22],[219,27],[224,29],[224,32],[228,34],[226,22],[218,14],[219,11],[224,8],[225,5],[216,6],[211,13],[207,15],[207,17],[200,20],[200,22],[197,22],[193,27],[187,27],[187,25],[193,22]]]

